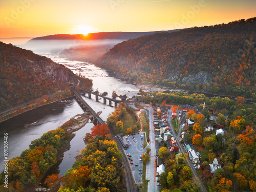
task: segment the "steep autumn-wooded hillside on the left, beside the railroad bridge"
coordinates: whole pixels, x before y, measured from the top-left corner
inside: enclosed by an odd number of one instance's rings
[[[66,90],[70,83],[92,86],[63,65],[32,51],[0,42],[0,110]]]

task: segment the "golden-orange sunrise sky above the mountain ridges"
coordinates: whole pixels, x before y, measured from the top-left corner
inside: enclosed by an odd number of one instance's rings
[[[0,38],[162,31],[255,16],[254,0],[1,0]]]

